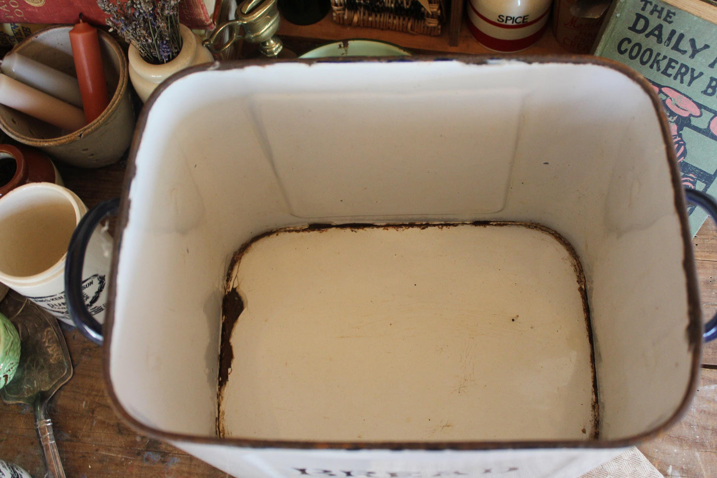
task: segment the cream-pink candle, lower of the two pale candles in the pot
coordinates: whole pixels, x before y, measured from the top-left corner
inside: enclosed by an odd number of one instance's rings
[[[80,108],[2,74],[0,103],[67,131],[77,131],[86,124]]]

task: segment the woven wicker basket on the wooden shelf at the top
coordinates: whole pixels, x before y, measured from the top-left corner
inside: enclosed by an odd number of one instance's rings
[[[331,0],[333,21],[352,27],[371,27],[415,34],[441,34],[444,0]]]

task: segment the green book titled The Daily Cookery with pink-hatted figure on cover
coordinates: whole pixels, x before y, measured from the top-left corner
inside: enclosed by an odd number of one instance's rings
[[[717,2],[613,0],[594,55],[652,83],[670,123],[683,185],[717,198]],[[690,206],[695,235],[707,215]]]

